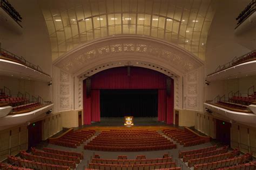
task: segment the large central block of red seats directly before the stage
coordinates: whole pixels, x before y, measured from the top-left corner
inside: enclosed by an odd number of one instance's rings
[[[102,131],[84,146],[96,151],[156,151],[176,148],[157,131],[146,129]]]

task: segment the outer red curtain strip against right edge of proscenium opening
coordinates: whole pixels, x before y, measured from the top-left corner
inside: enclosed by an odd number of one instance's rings
[[[171,94],[166,97],[166,123],[173,124],[173,111],[174,111],[174,84],[171,79]]]

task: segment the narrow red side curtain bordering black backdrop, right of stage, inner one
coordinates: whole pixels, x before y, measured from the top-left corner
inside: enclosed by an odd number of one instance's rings
[[[158,121],[166,121],[166,90],[158,89]]]

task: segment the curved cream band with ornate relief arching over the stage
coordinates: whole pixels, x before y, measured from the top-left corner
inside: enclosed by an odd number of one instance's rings
[[[127,65],[140,65],[160,70],[168,76],[181,76],[203,66],[203,62],[176,44],[152,37],[123,35],[81,45],[53,65],[73,76],[90,76],[100,70]]]

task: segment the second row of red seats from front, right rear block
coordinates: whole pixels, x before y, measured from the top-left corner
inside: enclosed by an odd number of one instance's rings
[[[195,154],[188,154],[188,155],[183,156],[183,162],[187,162],[190,159],[210,157],[212,155],[217,155],[217,154],[226,153],[226,152],[227,152],[227,147],[224,146],[224,147],[218,148],[217,150],[213,150],[213,151],[195,153]]]

